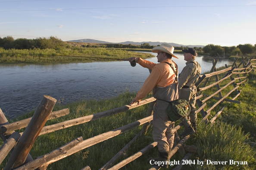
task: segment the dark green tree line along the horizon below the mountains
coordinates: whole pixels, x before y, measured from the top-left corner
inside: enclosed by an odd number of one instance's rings
[[[158,45],[160,46],[160,45]],[[63,48],[72,48],[71,45],[66,44],[61,39],[50,36],[49,38],[36,38],[36,39],[25,39],[18,38],[14,39],[12,36],[0,37],[0,48],[3,49],[63,49]],[[139,45],[131,44],[102,44],[97,45],[83,45],[84,48],[122,48],[122,49],[153,49],[155,46],[150,46],[149,43],[143,43]],[[189,47],[181,46],[175,47],[176,50],[183,50]],[[256,44],[239,44],[238,46],[217,46],[213,44],[208,44],[207,46],[194,47],[197,52],[204,52],[211,56],[223,56],[225,55],[241,55],[241,54],[254,54],[256,52]]]

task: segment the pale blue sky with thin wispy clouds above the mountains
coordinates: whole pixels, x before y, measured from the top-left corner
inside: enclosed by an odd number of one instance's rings
[[[0,37],[256,44],[256,0],[0,0]]]

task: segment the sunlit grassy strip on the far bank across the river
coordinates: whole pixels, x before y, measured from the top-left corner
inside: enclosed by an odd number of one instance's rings
[[[25,54],[25,55],[21,55]],[[58,56],[68,55],[71,57]],[[81,57],[72,57],[81,56]],[[91,57],[91,58],[82,58]],[[73,49],[9,49],[0,48],[0,63],[88,63],[95,61],[113,61],[106,58],[151,58],[148,53],[131,52],[122,49],[73,48]]]

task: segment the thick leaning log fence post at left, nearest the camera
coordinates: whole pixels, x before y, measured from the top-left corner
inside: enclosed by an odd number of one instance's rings
[[[28,127],[25,129],[14,148],[4,170],[11,170],[12,168],[19,167],[25,162],[28,152],[44,127],[56,101],[55,98],[44,95],[40,104],[37,106]]]

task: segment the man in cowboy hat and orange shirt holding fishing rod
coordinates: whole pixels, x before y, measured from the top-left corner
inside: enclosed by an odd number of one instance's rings
[[[159,158],[150,158],[149,161],[167,161],[169,150],[172,149],[174,134],[172,129],[174,123],[169,120],[165,111],[169,103],[162,101],[172,101],[178,99],[178,83],[176,78],[176,70],[178,73],[178,67],[175,62],[172,61],[174,47],[169,44],[161,44],[152,49],[152,52],[157,53],[157,59],[159,64],[152,63],[141,58],[128,58],[130,62],[136,61],[142,67],[151,69],[152,72],[145,80],[141,89],[138,91],[136,97],[130,104],[143,99],[150,91],[153,90],[153,97],[156,99],[156,104],[153,109],[153,139],[157,142]],[[171,67],[172,65],[172,67]],[[167,168],[168,164],[162,165]]]

